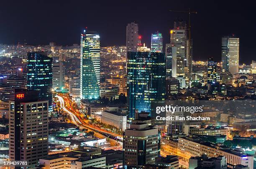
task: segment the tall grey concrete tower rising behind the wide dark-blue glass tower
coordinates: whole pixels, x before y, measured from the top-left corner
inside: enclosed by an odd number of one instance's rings
[[[136,52],[138,48],[138,24],[128,23],[126,26],[126,48],[127,52]]]

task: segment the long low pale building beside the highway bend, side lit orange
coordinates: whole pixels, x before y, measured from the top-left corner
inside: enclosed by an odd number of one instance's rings
[[[122,131],[126,129],[126,110],[119,107],[106,107],[101,114],[101,123],[115,126]]]

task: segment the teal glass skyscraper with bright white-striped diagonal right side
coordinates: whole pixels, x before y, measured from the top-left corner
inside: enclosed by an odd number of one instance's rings
[[[80,98],[100,97],[100,34],[84,30],[81,34]]]

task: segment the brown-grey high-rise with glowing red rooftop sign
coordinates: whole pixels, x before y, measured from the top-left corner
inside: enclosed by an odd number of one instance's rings
[[[15,90],[9,101],[9,156],[27,161],[35,168],[48,155],[48,101],[40,101],[38,91]]]

